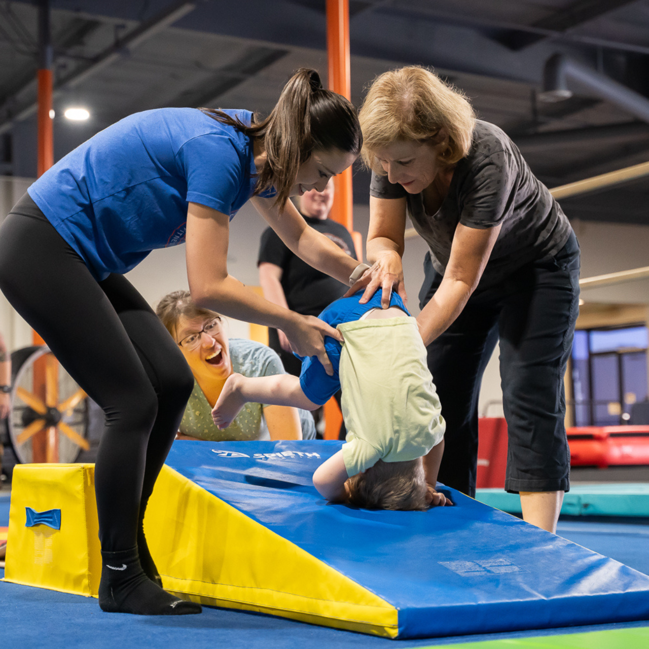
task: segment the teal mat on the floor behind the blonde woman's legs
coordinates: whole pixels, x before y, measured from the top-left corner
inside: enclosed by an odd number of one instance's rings
[[[502,489],[478,489],[476,500],[502,511],[520,513],[519,496]],[[649,517],[649,484],[574,485],[563,498],[561,513],[569,516]]]

